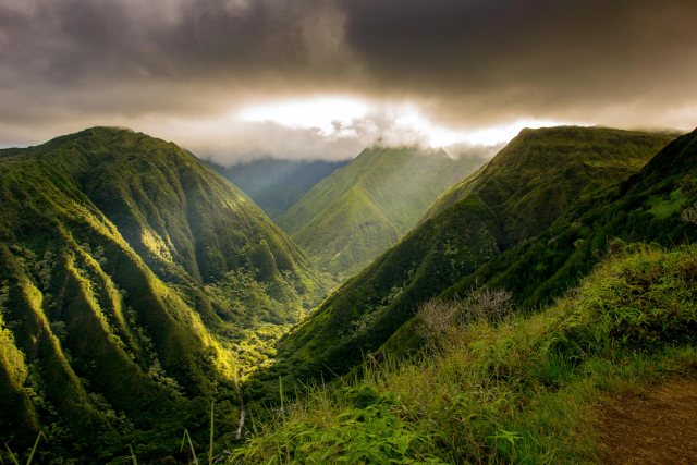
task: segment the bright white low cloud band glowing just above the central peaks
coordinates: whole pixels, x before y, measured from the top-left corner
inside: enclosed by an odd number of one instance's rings
[[[491,158],[502,142],[515,135],[504,132],[486,145],[473,143],[467,140],[466,133],[433,127],[417,117],[418,113],[408,108],[380,108],[360,118],[310,127],[290,127],[273,121],[241,121],[234,117],[207,121],[154,121],[149,133],[162,138],[176,136],[178,144],[199,158],[223,166],[257,158],[345,160],[375,144],[443,147],[453,157],[477,154]]]

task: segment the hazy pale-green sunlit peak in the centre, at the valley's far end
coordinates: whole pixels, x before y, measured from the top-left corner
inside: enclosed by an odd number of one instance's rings
[[[277,219],[320,269],[341,278],[395,244],[440,194],[484,159],[443,150],[365,149]]]

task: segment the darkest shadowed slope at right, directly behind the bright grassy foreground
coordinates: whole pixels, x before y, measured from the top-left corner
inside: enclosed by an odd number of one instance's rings
[[[443,293],[463,294],[475,281],[503,286],[524,308],[539,306],[574,287],[609,240],[672,246],[697,241],[682,213],[697,201],[697,132],[677,138],[627,181],[577,199],[535,241],[496,257]]]

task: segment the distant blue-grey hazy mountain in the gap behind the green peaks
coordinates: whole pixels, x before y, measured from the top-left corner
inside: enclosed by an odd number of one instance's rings
[[[240,187],[272,220],[283,215],[318,182],[350,160],[277,160],[262,158],[225,167],[207,161],[213,170]]]

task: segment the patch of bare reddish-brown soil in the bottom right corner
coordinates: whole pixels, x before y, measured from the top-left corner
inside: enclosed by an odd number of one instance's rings
[[[697,464],[697,380],[670,381],[602,409],[603,464]]]

